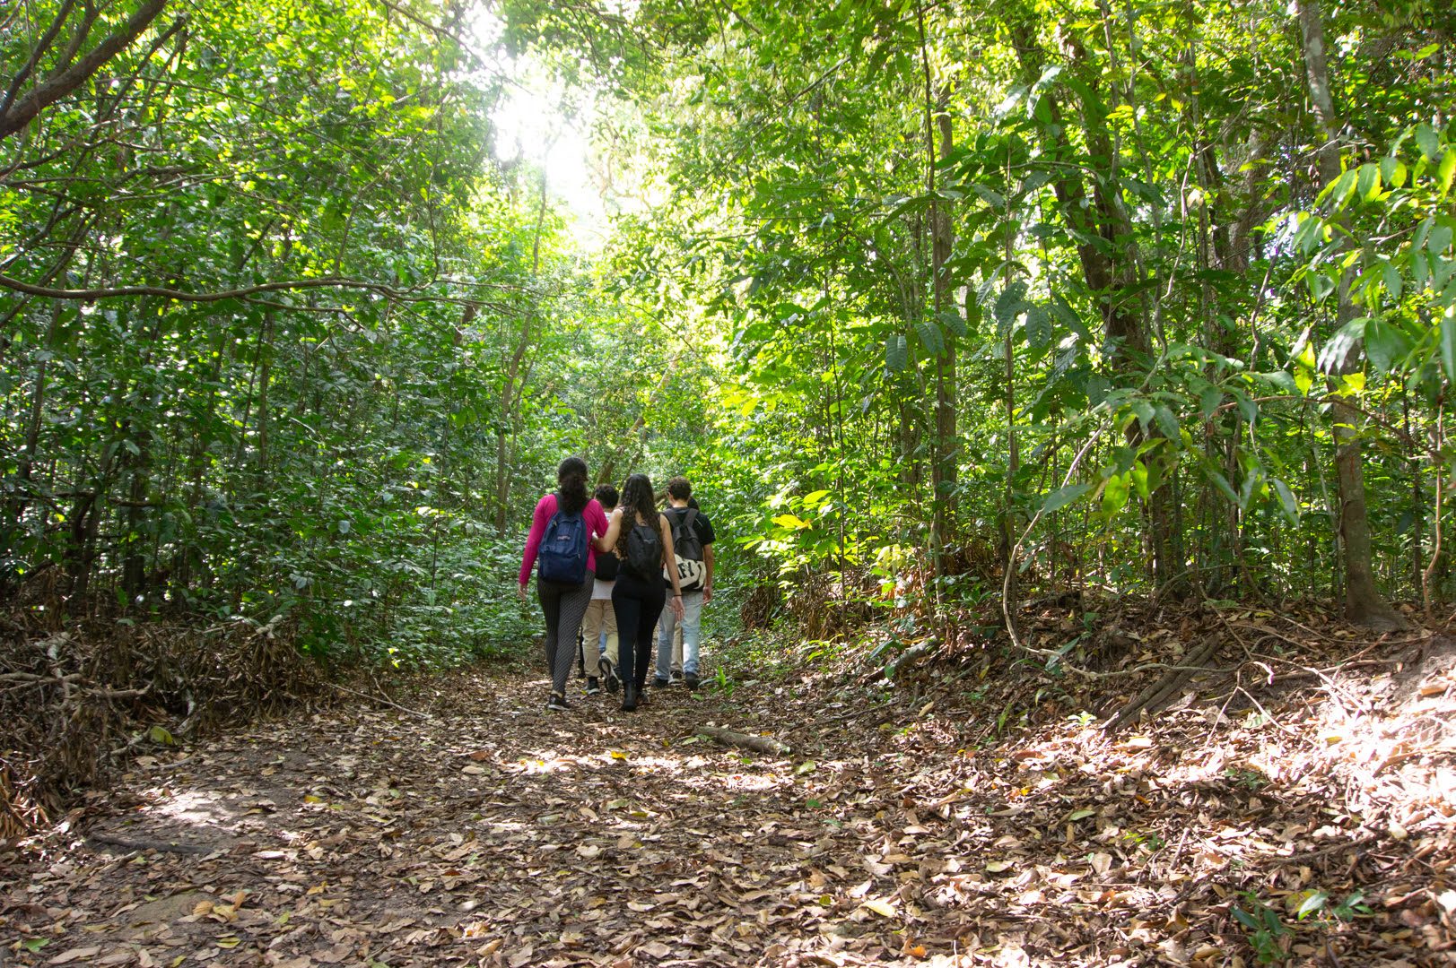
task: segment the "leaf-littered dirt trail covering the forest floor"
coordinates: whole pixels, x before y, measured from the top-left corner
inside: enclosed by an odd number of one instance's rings
[[[1398,681],[1444,703],[1427,716],[1450,716],[1453,652]],[[399,697],[421,715],[360,702],[143,757],[0,875],[0,961],[1449,964],[1453,790],[1406,790],[1405,827],[1361,817],[1310,766],[1354,741],[1296,722],[1310,694],[1265,694],[1277,722],[1190,706],[1107,738],[1053,709],[997,739],[1002,699],[957,678],[794,673],[649,690],[635,715],[574,680],[550,715],[539,674],[480,667]],[[1338,691],[1389,722],[1382,689]]]

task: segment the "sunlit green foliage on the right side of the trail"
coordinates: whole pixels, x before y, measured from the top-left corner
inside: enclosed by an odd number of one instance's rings
[[[1028,581],[1060,556],[1117,591],[1338,592],[1338,394],[1382,585],[1424,585],[1453,64],[1433,4],[1324,13],[1350,119],[1324,191],[1283,7],[748,3],[644,42],[633,109],[670,195],[614,246],[628,291],[716,336],[695,466],[760,571],[887,547],[913,571],[1035,521]],[[645,4],[644,31],[668,16]],[[1332,326],[1347,274],[1363,317]]]

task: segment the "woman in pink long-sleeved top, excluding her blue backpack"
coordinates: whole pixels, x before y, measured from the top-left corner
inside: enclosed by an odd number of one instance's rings
[[[587,461],[579,457],[561,461],[561,467],[556,469],[556,483],[558,492],[542,496],[531,515],[531,531],[526,537],[526,555],[521,558],[520,597],[526,601],[526,585],[531,579],[531,569],[536,566],[542,539],[552,518],[558,511],[563,518],[581,515],[587,533],[587,571],[582,581],[578,584],[536,576],[536,594],[546,616],[546,662],[550,665],[552,680],[546,709],[568,709],[566,678],[577,658],[581,617],[587,613],[587,603],[591,601],[591,582],[597,571],[596,552],[598,546],[603,552],[610,550],[610,546],[601,544],[607,533],[607,515],[601,505],[587,495]]]

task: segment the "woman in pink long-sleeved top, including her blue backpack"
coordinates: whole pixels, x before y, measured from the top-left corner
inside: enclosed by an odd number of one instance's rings
[[[606,540],[610,527],[606,512],[587,493],[587,461],[568,457],[556,469],[555,493],[543,495],[536,502],[531,515],[531,531],[526,537],[526,555],[521,558],[518,594],[526,601],[526,585],[531,579],[531,568],[537,553],[542,556],[542,574],[536,576],[536,594],[546,616],[546,664],[550,668],[550,697],[546,709],[568,709],[566,678],[577,658],[577,633],[581,617],[591,601],[591,585],[597,571],[598,550],[609,552]],[[549,531],[549,534],[547,534]],[[558,540],[559,539],[559,540]],[[542,541],[547,547],[542,549]],[[585,543],[585,571],[577,560],[581,556],[579,543]],[[547,560],[550,572],[547,574]],[[577,560],[575,571],[572,562]],[[579,576],[579,578],[578,578]]]

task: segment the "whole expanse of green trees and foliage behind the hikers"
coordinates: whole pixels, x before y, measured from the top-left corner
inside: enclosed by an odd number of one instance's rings
[[[1398,626],[1453,591],[1450,28],[13,6],[0,582],[57,622],[281,614],[319,655],[457,662],[529,636],[511,559],[577,453],[690,476],[737,601]],[[542,159],[501,160],[511,57],[590,108],[601,247]]]

